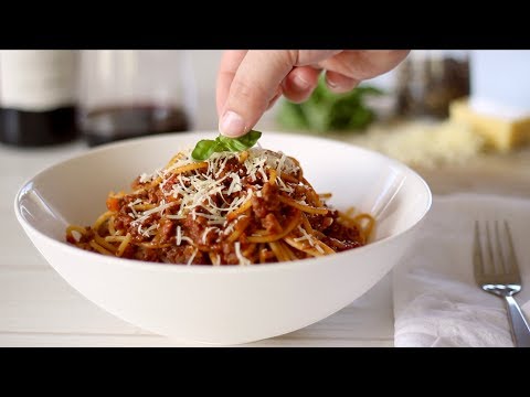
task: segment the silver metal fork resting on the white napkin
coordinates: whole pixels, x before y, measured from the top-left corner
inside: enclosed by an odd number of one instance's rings
[[[499,224],[495,221],[495,248],[486,222],[486,249],[483,250],[478,222],[475,222],[474,266],[478,286],[506,301],[510,320],[511,336],[518,347],[530,347],[530,326],[512,296],[521,290],[521,276],[517,264],[510,228],[505,221],[505,248],[502,248]],[[504,255],[505,254],[505,255]]]

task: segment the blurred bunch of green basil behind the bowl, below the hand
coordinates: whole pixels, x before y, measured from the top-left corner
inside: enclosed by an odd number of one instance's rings
[[[346,94],[331,93],[324,77],[309,99],[301,104],[284,100],[277,115],[278,124],[287,129],[312,132],[363,130],[375,112],[365,104],[368,96],[383,92],[372,86],[360,86]]]

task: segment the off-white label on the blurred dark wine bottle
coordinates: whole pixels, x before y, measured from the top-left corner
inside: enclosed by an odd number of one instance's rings
[[[76,52],[0,51],[0,107],[46,111],[75,104]]]

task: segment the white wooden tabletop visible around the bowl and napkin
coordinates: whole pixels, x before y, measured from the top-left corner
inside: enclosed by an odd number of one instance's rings
[[[0,346],[178,346],[87,301],[41,257],[13,212],[18,189],[43,168],[87,148],[75,142],[22,150],[0,144]],[[434,193],[484,192],[530,197],[530,149],[462,167],[417,170]],[[338,313],[251,346],[392,346],[390,275]]]

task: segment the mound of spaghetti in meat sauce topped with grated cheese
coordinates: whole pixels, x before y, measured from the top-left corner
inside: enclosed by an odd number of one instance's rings
[[[103,255],[184,265],[253,265],[331,255],[369,242],[374,219],[328,207],[299,162],[253,148],[194,161],[177,153],[131,192],[110,192],[92,226],[66,240]]]

